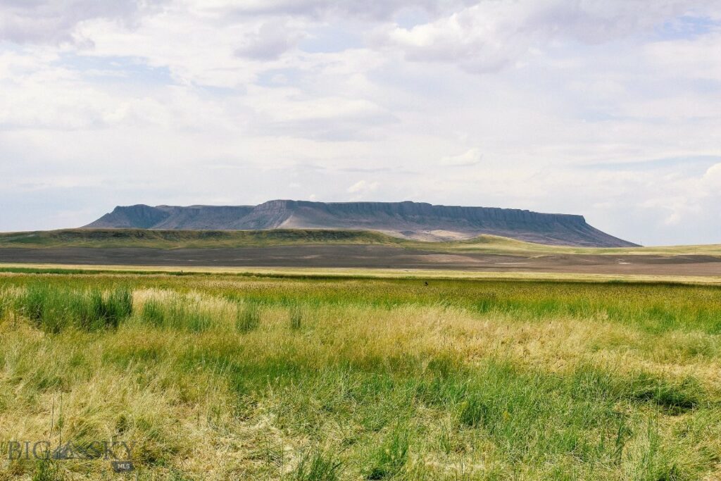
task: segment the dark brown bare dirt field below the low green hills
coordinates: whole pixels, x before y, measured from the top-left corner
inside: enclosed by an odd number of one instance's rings
[[[0,249],[0,262],[177,267],[385,268],[611,275],[721,275],[721,258],[704,255],[493,255],[438,253],[376,245],[304,245],[235,249],[53,247]]]

